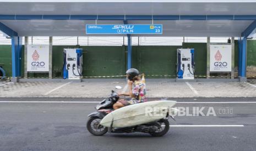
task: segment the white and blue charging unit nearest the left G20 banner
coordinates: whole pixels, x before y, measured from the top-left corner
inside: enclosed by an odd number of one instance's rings
[[[63,79],[81,79],[83,49],[64,49]]]

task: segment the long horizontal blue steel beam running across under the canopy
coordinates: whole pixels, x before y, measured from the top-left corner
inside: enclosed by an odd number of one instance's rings
[[[256,15],[0,15],[0,20],[256,20]]]

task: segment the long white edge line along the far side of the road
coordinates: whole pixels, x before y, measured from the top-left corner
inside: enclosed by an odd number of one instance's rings
[[[99,101],[0,101],[0,103],[100,103]],[[256,102],[177,102],[177,103],[256,103]]]

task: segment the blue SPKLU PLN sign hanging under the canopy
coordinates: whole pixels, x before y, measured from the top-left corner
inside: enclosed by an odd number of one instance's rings
[[[162,24],[86,25],[86,34],[162,34]]]

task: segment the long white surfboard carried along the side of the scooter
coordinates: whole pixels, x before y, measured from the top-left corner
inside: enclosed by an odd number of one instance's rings
[[[110,127],[129,127],[166,117],[176,101],[150,101],[119,108],[104,117],[100,124]]]

